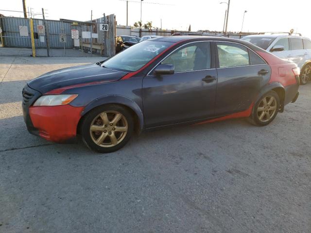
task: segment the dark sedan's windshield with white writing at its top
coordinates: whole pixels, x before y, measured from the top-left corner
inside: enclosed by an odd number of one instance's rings
[[[127,72],[136,71],[172,44],[171,42],[145,40],[108,59],[102,67]]]

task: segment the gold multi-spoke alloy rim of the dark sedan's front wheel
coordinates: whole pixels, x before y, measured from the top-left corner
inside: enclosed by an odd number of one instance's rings
[[[125,116],[117,111],[105,111],[93,119],[89,133],[98,146],[114,147],[124,139],[127,130]]]

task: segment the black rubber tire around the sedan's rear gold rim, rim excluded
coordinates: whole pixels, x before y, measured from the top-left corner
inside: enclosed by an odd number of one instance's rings
[[[264,104],[264,102],[263,102],[264,99],[267,101],[267,100],[271,100],[272,98],[275,98],[275,101],[273,100],[273,106],[271,106],[271,107],[270,106],[263,107],[262,104]],[[277,93],[275,91],[269,91],[266,94],[264,94],[257,101],[257,103],[254,105],[254,107],[252,109],[252,114],[248,118],[248,120],[253,125],[257,125],[257,126],[268,125],[268,124],[270,124],[274,120],[274,118],[276,118],[279,106],[280,106],[280,100],[279,100],[279,97],[278,97]],[[275,111],[273,111],[274,107],[276,107]],[[272,110],[272,108],[273,108],[273,110]],[[261,109],[264,109],[264,110],[261,110]],[[264,117],[261,116],[262,112],[264,114],[263,115]],[[259,115],[261,116],[261,119],[259,119],[259,117],[260,117]]]

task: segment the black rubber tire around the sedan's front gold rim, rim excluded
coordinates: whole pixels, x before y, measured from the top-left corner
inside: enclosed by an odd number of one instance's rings
[[[91,127],[91,125],[94,126],[94,121],[97,122],[98,119],[102,119],[102,118],[98,118],[98,117],[100,117],[99,115],[104,113],[104,114],[106,114],[106,116],[109,116],[109,114],[111,112],[121,113],[121,115],[122,115],[121,120],[127,123],[127,132],[125,133],[124,137],[122,136],[122,140],[120,140],[120,142],[118,141],[118,144],[116,144],[115,146],[113,146],[112,139],[111,139],[111,145],[109,147],[102,144],[102,143],[104,143],[104,141],[101,143],[101,146],[100,146],[94,142],[94,140],[96,139],[94,137],[96,135],[93,133],[99,133],[98,135],[102,135],[101,133],[104,133],[104,132],[101,132],[101,131],[91,132],[90,127]],[[124,118],[123,118],[123,116],[124,116]],[[109,122],[110,122],[110,120],[109,120]],[[104,139],[104,140],[110,140],[110,136],[112,136],[111,132],[113,129],[115,129],[115,128],[112,128],[114,126],[109,126],[109,125],[105,125],[104,121],[99,125],[100,127],[107,127],[108,126],[108,128],[106,128],[106,129],[108,130],[110,135],[107,135],[108,132],[107,133],[105,132],[105,134],[106,134],[105,138],[106,139]],[[96,126],[97,126],[97,124],[96,124]],[[118,126],[115,126],[115,127],[117,128]],[[86,146],[89,149],[95,150],[95,151],[98,151],[101,153],[110,153],[110,152],[113,152],[116,150],[120,150],[130,140],[130,138],[133,134],[133,131],[134,131],[133,116],[129,113],[129,111],[126,108],[124,108],[120,105],[117,105],[117,104],[102,105],[102,106],[99,106],[99,107],[91,110],[83,118],[82,123],[81,123],[81,136],[82,136],[83,142],[86,144]],[[92,135],[91,135],[91,133],[92,133]],[[113,133],[113,135],[115,135],[115,133],[117,135],[117,133],[119,133],[119,132],[117,132],[117,130],[116,130],[115,132],[112,132],[112,133]],[[107,144],[109,144],[109,142]]]

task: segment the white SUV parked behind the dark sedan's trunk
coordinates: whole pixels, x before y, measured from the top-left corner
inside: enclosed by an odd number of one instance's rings
[[[292,60],[300,68],[300,83],[311,80],[311,40],[290,33],[248,35],[242,38],[279,58]]]

